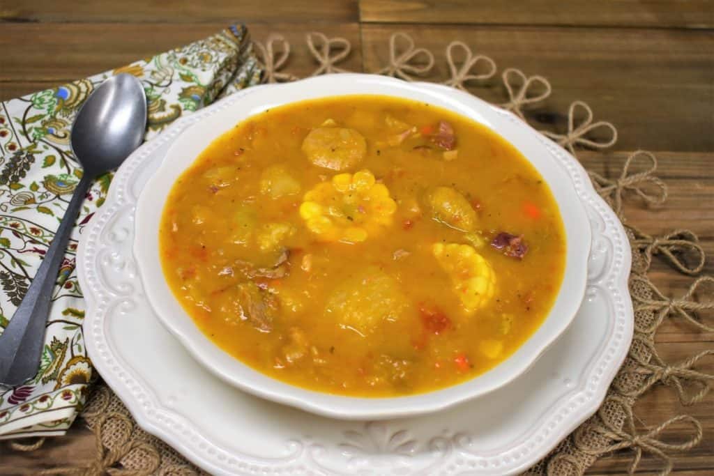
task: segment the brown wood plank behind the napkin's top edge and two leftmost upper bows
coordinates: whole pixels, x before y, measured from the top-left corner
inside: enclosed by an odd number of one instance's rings
[[[223,29],[225,23],[198,24],[4,24],[0,49],[6,51],[0,69],[0,100],[35,90],[35,85],[54,86],[153,56],[176,46],[205,38]],[[317,67],[306,47],[306,32],[314,24],[251,24],[251,37],[263,41],[270,32],[285,32],[293,45],[286,69],[308,76]],[[352,53],[341,66],[361,69],[358,24],[325,24],[321,32],[343,36]],[[32,41],[18,42],[17,38]],[[28,86],[24,86],[27,84]]]

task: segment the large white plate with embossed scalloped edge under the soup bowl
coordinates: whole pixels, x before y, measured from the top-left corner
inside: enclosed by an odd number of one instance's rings
[[[141,427],[213,474],[503,475],[533,465],[595,412],[632,338],[630,248],[583,168],[545,138],[578,186],[593,246],[575,320],[517,380],[431,415],[346,422],[242,393],[196,363],[146,301],[131,253],[134,209],[178,134],[249,93],[181,118],[139,148],[80,241],[89,355]]]

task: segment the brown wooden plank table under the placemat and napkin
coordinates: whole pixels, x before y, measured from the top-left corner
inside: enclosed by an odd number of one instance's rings
[[[615,151],[605,158],[584,153],[586,167],[612,177],[630,151],[653,151],[660,161],[658,174],[669,187],[668,202],[655,210],[630,205],[628,218],[648,233],[675,228],[698,233],[710,255],[705,273],[714,274],[711,0],[73,3],[0,2],[0,100],[151,56],[213,34],[236,20],[246,22],[253,38],[261,41],[270,32],[283,33],[294,46],[288,69],[298,76],[315,68],[306,49],[298,48],[308,31],[349,39],[353,52],[343,66],[364,71],[386,64],[388,37],[393,31],[406,31],[418,46],[435,52],[436,74],[441,77],[446,76],[443,49],[449,41],[460,39],[491,56],[499,70],[514,66],[546,76],[554,92],[542,107],[549,112],[543,114],[543,121],[562,124],[570,102],[581,99],[592,106],[596,119],[618,127]],[[651,273],[655,283],[667,295],[684,293],[691,278],[676,275],[656,261]],[[657,345],[664,358],[677,361],[713,348],[714,334],[694,332],[670,320],[660,328]],[[709,360],[703,370],[714,373],[714,362]],[[703,442],[675,457],[675,472],[713,474],[713,403],[710,393],[699,405],[681,407],[673,392],[657,387],[636,405],[644,425],[656,425],[682,412],[703,424]],[[682,441],[683,427],[670,427],[665,438]],[[56,465],[76,465],[93,456],[94,437],[79,423],[68,435],[46,442],[34,453],[9,452],[0,445],[0,473],[31,474]],[[589,473],[625,472],[629,457],[630,452],[603,457]],[[638,472],[652,472],[658,464],[645,455]]]

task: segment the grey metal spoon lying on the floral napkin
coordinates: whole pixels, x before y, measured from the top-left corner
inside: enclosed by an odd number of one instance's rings
[[[52,288],[84,196],[97,176],[119,167],[139,147],[145,128],[144,88],[131,74],[118,74],[104,81],[77,114],[71,147],[84,175],[34,280],[0,335],[0,383],[19,385],[36,375]]]

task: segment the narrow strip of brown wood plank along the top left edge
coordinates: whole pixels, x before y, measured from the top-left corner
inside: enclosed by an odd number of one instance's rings
[[[73,1],[70,8],[67,4],[53,0],[6,0],[0,6],[0,21],[25,23],[323,23],[358,21],[358,14],[357,0],[297,0],[282,2],[280,5],[261,0]]]

